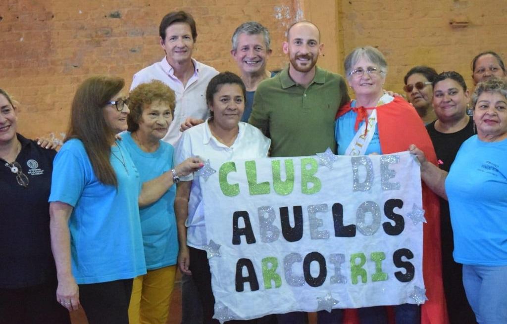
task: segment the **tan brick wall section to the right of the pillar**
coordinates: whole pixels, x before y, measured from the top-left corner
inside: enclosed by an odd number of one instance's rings
[[[507,62],[505,0],[342,0],[339,11],[342,61],[357,46],[377,47],[389,65],[386,89],[403,93],[410,68],[428,65],[459,72],[473,91],[470,62],[477,54],[493,50]],[[453,20],[468,26],[453,28]]]

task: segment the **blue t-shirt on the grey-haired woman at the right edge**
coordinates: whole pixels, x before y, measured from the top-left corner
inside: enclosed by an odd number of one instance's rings
[[[454,260],[507,265],[507,140],[477,135],[460,147],[445,182],[454,232]]]

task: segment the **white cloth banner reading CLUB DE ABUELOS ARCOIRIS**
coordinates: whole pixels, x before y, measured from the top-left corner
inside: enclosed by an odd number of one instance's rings
[[[423,302],[417,161],[317,155],[209,160],[215,318]]]

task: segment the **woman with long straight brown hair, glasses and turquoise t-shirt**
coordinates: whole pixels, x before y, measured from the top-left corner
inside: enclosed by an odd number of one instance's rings
[[[141,192],[139,173],[115,138],[127,129],[124,85],[122,78],[95,76],[79,86],[53,166],[56,299],[69,310],[81,304],[90,324],[128,323],[133,278],[146,273],[138,206],[172,184],[172,176],[161,176]]]

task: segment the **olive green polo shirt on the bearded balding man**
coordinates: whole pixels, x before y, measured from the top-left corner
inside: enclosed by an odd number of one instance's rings
[[[349,100],[342,76],[317,66],[305,89],[287,66],[259,84],[248,123],[271,138],[270,156],[314,155],[328,147],[336,153],[336,112]]]

